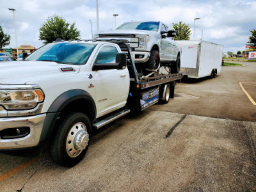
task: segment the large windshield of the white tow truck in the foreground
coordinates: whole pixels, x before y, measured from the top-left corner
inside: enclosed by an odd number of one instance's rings
[[[29,55],[26,61],[54,61],[82,65],[86,63],[95,46],[95,44],[71,42],[47,44]]]

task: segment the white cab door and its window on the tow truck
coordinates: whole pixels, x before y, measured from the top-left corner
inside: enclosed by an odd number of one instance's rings
[[[100,65],[116,63],[115,57],[118,48],[114,45],[102,45],[97,51],[94,63]],[[92,71],[92,76],[95,80],[97,118],[126,104],[130,83],[127,67],[125,69],[95,70]]]

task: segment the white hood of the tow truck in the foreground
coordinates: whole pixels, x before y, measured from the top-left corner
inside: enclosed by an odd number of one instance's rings
[[[47,77],[78,73],[80,70],[79,65],[51,61],[8,61],[0,63],[0,67],[0,84],[26,84]],[[61,68],[73,68],[74,71],[63,72]]]

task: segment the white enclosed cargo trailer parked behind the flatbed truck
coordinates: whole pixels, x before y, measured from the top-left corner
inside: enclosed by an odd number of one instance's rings
[[[223,45],[203,40],[177,40],[182,47],[180,73],[190,78],[216,77],[221,71]]]

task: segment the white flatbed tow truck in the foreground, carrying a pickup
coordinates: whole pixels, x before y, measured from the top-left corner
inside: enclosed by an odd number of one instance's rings
[[[54,162],[74,166],[94,129],[173,98],[182,75],[139,79],[131,54],[124,40],[60,40],[1,63],[0,150],[49,143]]]

